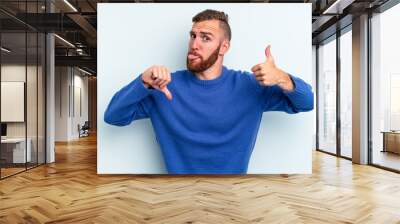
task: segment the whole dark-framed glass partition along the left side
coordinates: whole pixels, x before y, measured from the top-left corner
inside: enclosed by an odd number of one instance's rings
[[[1,1],[0,7],[23,16],[43,13],[44,3]],[[45,163],[45,45],[44,33],[0,12],[1,179]]]

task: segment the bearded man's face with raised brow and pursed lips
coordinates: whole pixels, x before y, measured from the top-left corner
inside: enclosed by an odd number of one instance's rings
[[[192,72],[203,72],[218,60],[224,40],[218,20],[206,20],[193,24],[186,66]]]

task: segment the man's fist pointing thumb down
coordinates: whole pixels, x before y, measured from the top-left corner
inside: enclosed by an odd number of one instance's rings
[[[158,65],[151,66],[143,72],[142,81],[146,88],[151,86],[163,92],[167,99],[172,100],[172,94],[167,88],[168,83],[171,82],[171,73],[166,67]]]

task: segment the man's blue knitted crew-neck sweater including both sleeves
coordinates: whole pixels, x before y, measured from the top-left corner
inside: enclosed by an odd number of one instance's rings
[[[212,80],[181,70],[171,74],[169,101],[162,92],[147,89],[139,75],[113,96],[104,121],[124,126],[150,118],[171,174],[244,174],[264,111],[313,109],[310,85],[290,77],[295,89],[285,92],[225,66]]]

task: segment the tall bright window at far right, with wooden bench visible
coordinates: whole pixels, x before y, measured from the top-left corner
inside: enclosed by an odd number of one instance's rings
[[[372,164],[400,170],[400,4],[371,18]]]

